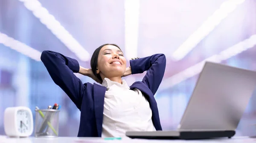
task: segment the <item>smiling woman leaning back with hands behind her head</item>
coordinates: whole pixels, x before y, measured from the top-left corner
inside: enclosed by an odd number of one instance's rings
[[[123,137],[126,131],[162,130],[154,99],[166,67],[164,54],[126,59],[115,44],[97,48],[91,69],[53,51],[43,51],[41,60],[52,80],[81,111],[78,137]],[[121,77],[147,71],[142,81],[130,87]],[[83,84],[73,73],[89,76],[98,84]]]

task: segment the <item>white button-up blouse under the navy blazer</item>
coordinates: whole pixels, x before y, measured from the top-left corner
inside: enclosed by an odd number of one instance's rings
[[[122,84],[105,78],[107,87],[104,98],[102,137],[125,137],[126,131],[156,131],[152,111],[140,90],[130,90]]]

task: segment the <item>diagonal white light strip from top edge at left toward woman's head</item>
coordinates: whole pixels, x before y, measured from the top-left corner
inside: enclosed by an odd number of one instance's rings
[[[58,22],[54,16],[49,14],[46,8],[41,6],[38,0],[20,0],[24,6],[33,12],[35,17],[47,26],[64,45],[67,46],[81,61],[90,60],[90,54],[85,50],[76,39]]]

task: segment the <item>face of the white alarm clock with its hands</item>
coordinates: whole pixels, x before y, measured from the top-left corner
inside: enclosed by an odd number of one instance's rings
[[[24,134],[24,133],[28,133],[31,130],[31,117],[28,111],[26,110],[18,110],[17,111],[17,116],[16,116],[17,120],[17,129],[18,132]]]

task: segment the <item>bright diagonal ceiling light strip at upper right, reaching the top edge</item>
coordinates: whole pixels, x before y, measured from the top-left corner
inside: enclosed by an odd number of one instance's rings
[[[186,41],[180,45],[172,54],[175,61],[183,59],[204,37],[206,37],[224,18],[227,17],[236,7],[243,3],[244,0],[227,0],[222,3],[220,8],[216,10],[212,16],[199,27]]]

